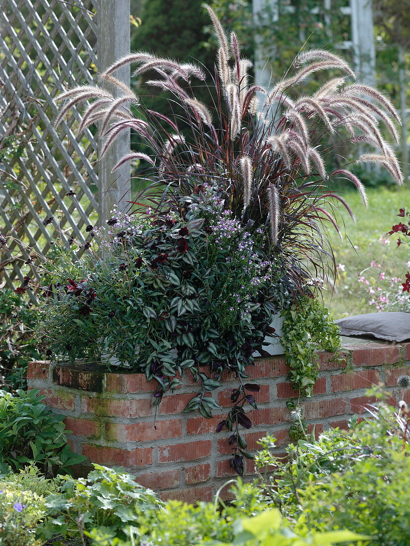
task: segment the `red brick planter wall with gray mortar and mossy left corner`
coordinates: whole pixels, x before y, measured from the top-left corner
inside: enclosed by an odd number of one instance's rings
[[[301,400],[305,419],[318,433],[330,425],[346,427],[349,416],[372,401],[365,391],[379,381],[391,391],[394,403],[400,396],[397,377],[410,375],[410,343],[391,345],[344,337],[342,352],[341,362],[333,361],[330,353],[319,353],[314,395]],[[260,392],[253,393],[258,410],[248,413],[252,429],[243,431],[248,449],[255,450],[259,438],[269,433],[277,438],[281,453],[289,441],[286,402],[296,394],[287,381],[288,367],[283,357],[258,358],[248,373],[247,381],[260,384]],[[73,431],[70,446],[76,453],[102,465],[126,467],[139,483],[161,491],[163,498],[210,500],[234,476],[228,462],[230,433],[215,434],[223,414],[205,419],[196,412],[182,413],[195,393],[189,378],[175,394],[165,396],[159,407],[152,408],[155,385],[142,374],[105,373],[96,366],[45,361],[28,365],[28,387],[40,389],[45,403],[66,416],[64,422]],[[235,387],[233,377],[226,376],[223,387],[216,391],[222,407],[230,407],[230,392]],[[245,460],[245,475],[253,473],[253,461]]]

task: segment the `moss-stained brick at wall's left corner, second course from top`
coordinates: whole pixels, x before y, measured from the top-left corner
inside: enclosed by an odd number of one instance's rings
[[[99,417],[147,417],[153,414],[151,398],[140,400],[124,400],[120,398],[90,398],[82,396],[81,411],[92,413]]]

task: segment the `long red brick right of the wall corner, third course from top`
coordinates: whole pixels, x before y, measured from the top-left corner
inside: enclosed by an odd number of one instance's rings
[[[105,433],[111,442],[151,442],[182,436],[182,419],[139,423],[106,423]]]

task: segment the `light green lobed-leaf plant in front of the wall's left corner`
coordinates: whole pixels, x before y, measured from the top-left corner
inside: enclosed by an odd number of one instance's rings
[[[163,506],[153,491],[138,485],[122,468],[93,466],[87,478],[62,477],[61,491],[46,497],[47,518],[38,529],[42,539],[58,533],[84,543],[85,533],[93,529],[124,538],[122,528],[138,523],[137,509],[157,512]]]

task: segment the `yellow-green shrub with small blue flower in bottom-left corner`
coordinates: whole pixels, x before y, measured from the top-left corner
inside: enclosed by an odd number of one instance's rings
[[[0,482],[0,544],[40,546],[36,532],[44,515],[43,497]]]

